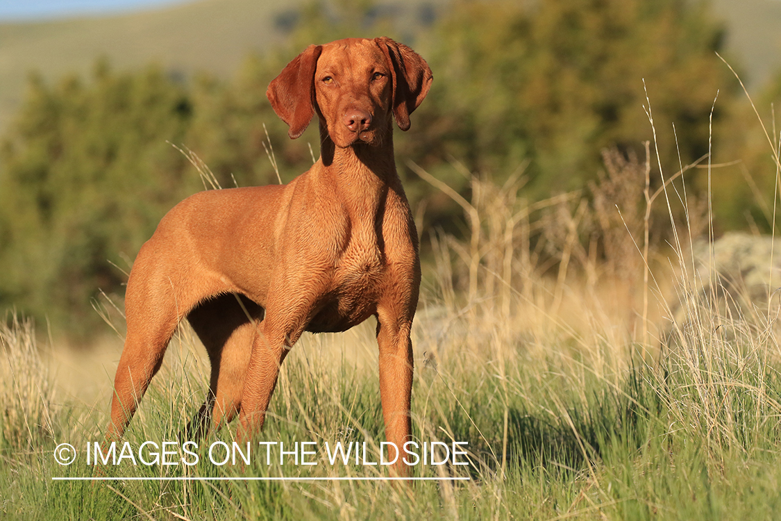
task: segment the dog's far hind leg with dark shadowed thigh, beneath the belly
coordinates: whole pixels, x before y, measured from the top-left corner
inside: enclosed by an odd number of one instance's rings
[[[187,429],[189,439],[198,440],[210,428],[217,430],[236,416],[252,339],[262,318],[259,305],[236,294],[202,302],[187,316],[212,366],[205,402]]]

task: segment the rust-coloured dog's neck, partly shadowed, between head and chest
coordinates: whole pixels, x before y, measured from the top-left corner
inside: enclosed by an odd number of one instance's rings
[[[388,187],[398,189],[393,152],[393,130],[380,145],[357,143],[345,148],[334,145],[320,124],[320,162],[342,202],[353,216],[376,216]]]

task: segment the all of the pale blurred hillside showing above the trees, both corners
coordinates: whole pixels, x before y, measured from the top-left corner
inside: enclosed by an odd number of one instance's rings
[[[412,31],[413,20],[450,0],[380,4]],[[88,73],[98,56],[126,68],[154,61],[174,72],[227,75],[251,51],[280,41],[307,0],[198,0],[115,16],[36,23],[0,23],[0,132],[23,97],[30,70],[52,80]],[[756,87],[781,67],[781,0],[713,0],[726,21],[728,45]]]

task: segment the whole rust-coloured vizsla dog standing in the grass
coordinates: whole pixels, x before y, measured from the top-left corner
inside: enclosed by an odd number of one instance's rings
[[[289,184],[203,191],[163,217],[127,283],[109,440],[123,435],[184,317],[212,365],[196,430],[238,413],[246,440],[304,331],[344,331],[373,315],[386,437],[402,448],[420,265],[392,123],[409,128],[431,80],[412,49],[380,37],[310,45],[271,82],[266,95],[291,138],[317,115],[320,159]]]

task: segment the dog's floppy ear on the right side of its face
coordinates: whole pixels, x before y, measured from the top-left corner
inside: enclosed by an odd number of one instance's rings
[[[409,115],[429,93],[431,69],[420,55],[389,37],[375,38],[376,44],[391,65],[393,79],[393,114],[401,130],[408,130]]]

